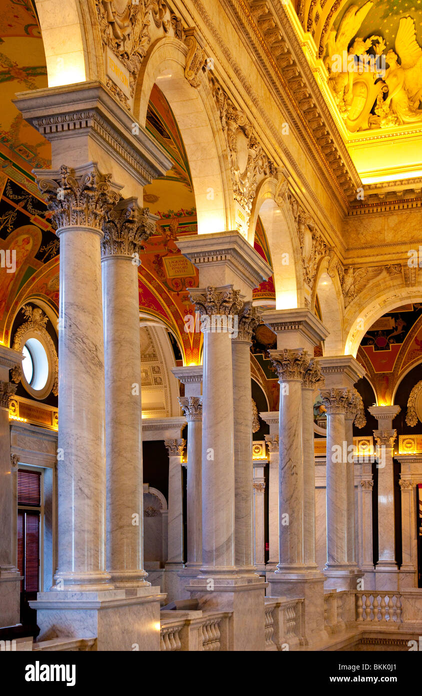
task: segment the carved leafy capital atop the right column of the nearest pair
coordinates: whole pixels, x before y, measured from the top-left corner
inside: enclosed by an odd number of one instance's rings
[[[103,224],[102,257],[133,257],[143,248],[143,242],[155,232],[155,222],[149,208],[141,208],[136,198],[122,199],[108,211]]]

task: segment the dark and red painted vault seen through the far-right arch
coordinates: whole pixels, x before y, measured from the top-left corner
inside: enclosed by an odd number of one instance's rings
[[[378,396],[391,404],[403,375],[422,361],[422,303],[384,314],[368,329],[357,353]]]

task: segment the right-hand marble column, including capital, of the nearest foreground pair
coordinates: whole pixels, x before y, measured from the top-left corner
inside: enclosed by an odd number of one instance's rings
[[[145,584],[138,255],[154,232],[148,210],[121,200],[104,223],[106,569],[115,587]],[[149,585],[149,583],[147,583]]]

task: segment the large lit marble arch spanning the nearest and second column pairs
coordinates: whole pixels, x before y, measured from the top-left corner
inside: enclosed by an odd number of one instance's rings
[[[174,37],[157,40],[144,58],[138,75],[133,113],[145,125],[154,83],[168,100],[188,155],[197,209],[198,233],[234,228],[234,198],[229,161],[220,119],[206,76],[199,86],[185,77],[188,48]]]

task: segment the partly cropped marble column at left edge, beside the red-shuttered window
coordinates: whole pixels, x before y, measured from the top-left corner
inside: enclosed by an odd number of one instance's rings
[[[17,569],[17,461],[10,456],[9,400],[17,385],[9,370],[19,370],[23,356],[0,345],[0,628],[19,624],[20,580]]]

